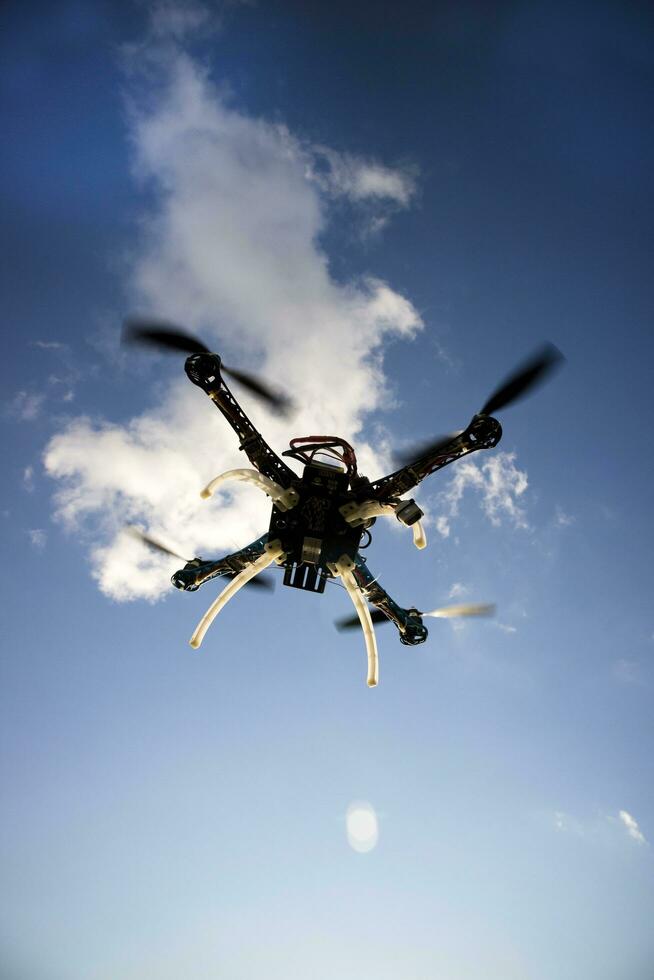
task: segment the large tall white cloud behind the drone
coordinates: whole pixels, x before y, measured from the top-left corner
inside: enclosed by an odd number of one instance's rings
[[[130,135],[136,175],[155,203],[132,257],[134,308],[197,330],[228,348],[228,363],[283,382],[301,406],[292,429],[244,399],[278,451],[291,436],[335,433],[357,444],[363,472],[380,475],[384,460],[362,444],[361,429],[384,404],[382,345],[413,336],[420,317],[373,276],[346,285],[330,278],[318,238],[331,198],[307,176],[305,146],[284,127],[231,108],[178,48],[168,45],[160,61],[156,47],[148,56],[160,74],[132,92]],[[408,193],[390,171],[384,179],[382,171],[364,179],[364,171],[362,164],[360,193],[396,201]],[[200,500],[209,479],[247,461],[182,363],[183,380],[167,385],[156,408],[124,426],[78,418],[45,452],[59,481],[57,516],[90,533],[93,574],[117,599],[157,598],[179,564],[146,553],[121,532],[126,523],[189,556],[231,551],[267,527],[269,506],[252,488]]]

